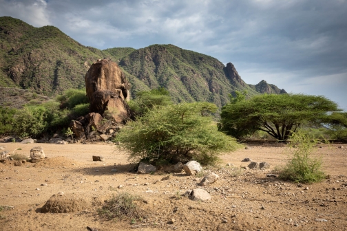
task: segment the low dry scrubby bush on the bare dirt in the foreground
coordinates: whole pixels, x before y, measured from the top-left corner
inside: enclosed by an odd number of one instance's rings
[[[138,209],[134,201],[141,200],[137,195],[132,195],[128,192],[120,192],[118,195],[112,195],[112,198],[105,203],[101,210],[98,210],[101,217],[106,219],[129,219],[138,218]]]

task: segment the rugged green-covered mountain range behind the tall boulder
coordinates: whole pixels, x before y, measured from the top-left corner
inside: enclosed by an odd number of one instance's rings
[[[233,91],[248,94],[285,91],[261,81],[244,83],[235,67],[216,58],[174,45],[134,49],[86,47],[53,26],[34,28],[11,17],[0,17],[0,87],[20,87],[54,96],[68,88],[83,88],[88,68],[98,58],[118,63],[137,91],[165,87],[175,102],[209,101],[219,107]]]

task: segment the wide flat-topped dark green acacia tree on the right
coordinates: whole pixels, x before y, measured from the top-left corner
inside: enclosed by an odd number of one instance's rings
[[[284,141],[303,122],[322,122],[334,111],[340,111],[337,104],[324,96],[264,94],[222,107],[218,126],[238,138],[260,130]]]

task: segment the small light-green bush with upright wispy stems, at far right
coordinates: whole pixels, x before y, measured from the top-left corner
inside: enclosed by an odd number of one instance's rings
[[[291,142],[297,144],[297,147],[291,148],[293,158],[280,170],[279,177],[302,183],[322,181],[325,177],[322,171],[322,157],[312,157],[317,142],[312,142],[303,133],[293,133]]]

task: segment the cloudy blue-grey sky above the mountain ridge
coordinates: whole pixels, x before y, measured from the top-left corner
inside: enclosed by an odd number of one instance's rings
[[[104,50],[173,44],[233,63],[246,83],[326,96],[347,111],[347,0],[0,0]]]

